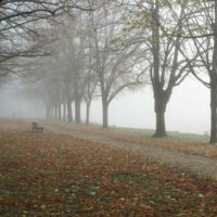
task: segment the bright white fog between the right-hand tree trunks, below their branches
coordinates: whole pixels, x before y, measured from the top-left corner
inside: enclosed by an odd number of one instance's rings
[[[155,128],[151,87],[139,92],[125,92],[110,107],[110,125]],[[101,122],[101,104],[94,102],[91,119]],[[209,90],[193,78],[175,88],[166,112],[167,130],[204,133],[209,131]]]

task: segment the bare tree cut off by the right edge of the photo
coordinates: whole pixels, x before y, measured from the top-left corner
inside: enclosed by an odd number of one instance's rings
[[[189,2],[186,33],[180,38],[189,39],[188,47],[196,62],[192,63],[182,51],[194,77],[210,89],[210,143],[217,142],[217,2]],[[204,72],[206,75],[204,75]]]

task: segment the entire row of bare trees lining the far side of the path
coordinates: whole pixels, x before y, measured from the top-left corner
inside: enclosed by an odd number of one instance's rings
[[[38,80],[35,87],[40,89],[48,117],[72,122],[74,102],[75,120],[80,123],[80,103],[85,101],[88,123],[91,100],[101,97],[103,127],[106,128],[112,100],[126,88],[151,84],[156,113],[154,136],[164,137],[165,112],[174,88],[191,73],[210,89],[210,143],[217,142],[216,1],[89,0],[79,1],[79,4],[61,1],[64,2],[61,7],[59,1],[51,2],[51,5],[43,5],[39,1],[39,4],[28,7],[30,16],[28,13],[21,15],[28,17],[28,36],[38,36],[37,40],[30,40],[31,51],[37,56],[49,54],[30,62],[22,55],[25,63],[22,68],[28,72],[27,77]],[[81,11],[72,13],[72,8]],[[55,14],[59,16],[53,17]],[[33,18],[36,16],[37,25]],[[26,28],[22,23],[22,34],[24,26]],[[14,26],[11,30],[14,34],[13,29]],[[43,35],[42,43],[40,35]],[[13,36],[12,41],[20,40]],[[29,38],[27,41],[29,44]],[[18,44],[16,48],[26,48],[23,41]],[[17,52],[14,56],[18,56]],[[11,65],[8,68],[11,71]]]

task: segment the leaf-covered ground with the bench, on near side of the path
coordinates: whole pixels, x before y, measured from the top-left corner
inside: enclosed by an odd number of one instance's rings
[[[217,216],[214,179],[148,159],[131,142],[44,127],[0,122],[0,216]]]

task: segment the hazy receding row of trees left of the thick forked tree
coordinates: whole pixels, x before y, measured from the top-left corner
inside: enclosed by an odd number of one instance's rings
[[[80,123],[80,104],[85,101],[88,124],[91,101],[101,97],[103,128],[107,128],[108,105],[124,89],[142,84],[142,73],[136,53],[139,46],[116,44],[123,35],[122,16],[117,16],[120,10],[115,3],[94,7],[98,10],[59,17],[58,24],[53,21],[46,33],[54,36],[52,54],[29,64],[34,73],[27,72],[39,80],[41,87],[37,89],[43,90],[47,117],[73,122],[74,103],[75,122]]]

